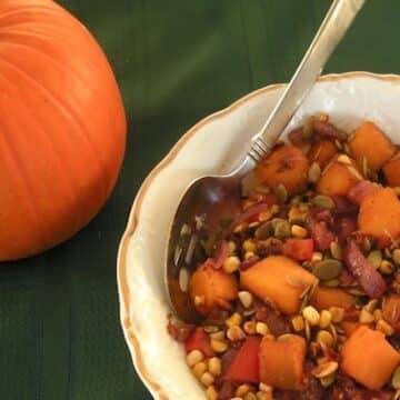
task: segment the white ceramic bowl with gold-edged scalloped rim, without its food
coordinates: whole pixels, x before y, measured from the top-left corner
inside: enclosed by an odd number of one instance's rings
[[[283,87],[274,84],[252,92],[196,124],[153,169],[134,200],[118,257],[121,322],[136,369],[156,399],[206,398],[186,366],[183,349],[166,329],[170,309],[163,287],[164,249],[179,198],[192,179],[232,169]],[[399,107],[398,76],[326,76],[288,131],[307,116],[322,111],[344,130],[372,120],[398,142]]]

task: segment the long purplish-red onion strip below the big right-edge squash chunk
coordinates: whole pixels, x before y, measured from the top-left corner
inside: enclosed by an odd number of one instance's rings
[[[359,247],[351,240],[344,250],[344,262],[361,288],[371,299],[379,299],[387,290],[382,276],[370,264]]]

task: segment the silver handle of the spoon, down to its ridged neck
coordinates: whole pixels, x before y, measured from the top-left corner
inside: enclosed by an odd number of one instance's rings
[[[334,0],[332,2],[282,97],[261,131],[252,138],[248,152],[251,161],[258,163],[274,146],[363,3],[364,0]]]

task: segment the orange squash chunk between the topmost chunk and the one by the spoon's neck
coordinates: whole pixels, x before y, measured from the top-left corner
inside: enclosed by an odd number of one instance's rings
[[[349,159],[350,160],[350,159]],[[327,196],[346,196],[349,190],[362,180],[356,163],[333,159],[323,170],[317,183],[317,191]]]

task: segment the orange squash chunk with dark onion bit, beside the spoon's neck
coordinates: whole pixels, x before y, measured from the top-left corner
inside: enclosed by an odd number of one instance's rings
[[[272,150],[256,168],[256,178],[271,189],[282,183],[289,194],[303,190],[307,186],[309,161],[303,152],[290,144]]]

